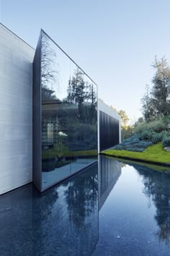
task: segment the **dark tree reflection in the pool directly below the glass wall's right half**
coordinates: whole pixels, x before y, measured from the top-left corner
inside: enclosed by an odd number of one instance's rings
[[[97,165],[91,168],[81,173],[81,180],[75,177],[69,182],[65,192],[69,219],[78,229],[85,227],[87,219],[98,212]]]

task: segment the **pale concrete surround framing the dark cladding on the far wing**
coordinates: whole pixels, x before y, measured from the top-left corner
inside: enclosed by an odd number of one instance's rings
[[[121,118],[120,118],[120,115],[117,114],[115,111],[113,111],[112,108],[109,108],[109,106],[107,106],[107,104],[105,104],[104,102],[102,102],[101,100],[98,99],[98,111],[97,111],[97,119],[98,119],[98,125],[97,125],[97,129],[98,129],[98,131],[97,131],[98,132],[98,153],[100,152],[100,140],[102,140],[102,138],[100,137],[99,111],[102,111],[105,114],[107,114],[109,116],[112,116],[114,119],[116,119],[119,122],[119,142],[121,142]],[[107,135],[105,135],[105,136],[107,136]]]

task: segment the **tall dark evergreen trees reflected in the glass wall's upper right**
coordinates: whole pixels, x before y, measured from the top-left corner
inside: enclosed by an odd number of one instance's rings
[[[97,92],[93,83],[84,80],[84,73],[77,67],[72,79],[68,81],[68,97],[70,103],[79,106],[79,119],[86,123],[96,122]]]

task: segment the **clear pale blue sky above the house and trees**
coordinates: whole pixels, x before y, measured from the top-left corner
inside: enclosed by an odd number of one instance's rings
[[[98,85],[98,96],[140,114],[154,56],[170,63],[169,0],[0,0],[1,22],[34,48],[42,27]]]

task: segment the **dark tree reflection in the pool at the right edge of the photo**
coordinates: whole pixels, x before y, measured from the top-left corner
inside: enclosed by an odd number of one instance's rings
[[[153,171],[150,168],[133,165],[143,176],[143,192],[156,206],[157,232],[160,240],[170,242],[170,175]]]

